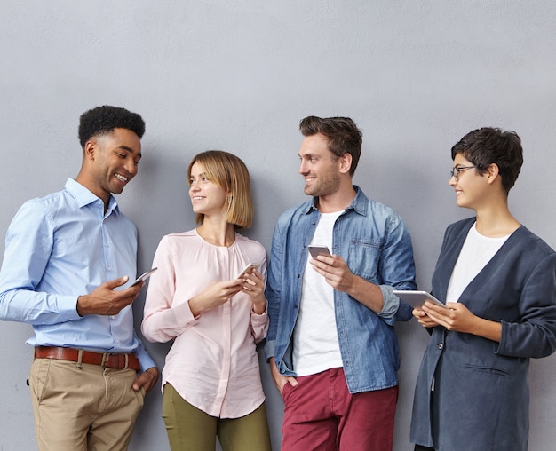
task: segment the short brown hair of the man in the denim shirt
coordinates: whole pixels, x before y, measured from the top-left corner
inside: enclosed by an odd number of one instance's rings
[[[349,117],[317,117],[307,116],[299,123],[299,131],[303,136],[322,134],[329,140],[329,149],[337,157],[352,155],[352,166],[349,170],[353,177],[361,156],[363,142],[361,130]]]

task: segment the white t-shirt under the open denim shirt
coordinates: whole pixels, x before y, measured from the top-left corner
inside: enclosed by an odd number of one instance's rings
[[[344,212],[321,213],[311,244],[332,249],[332,231]],[[309,376],[343,367],[338,343],[334,289],[313,269],[307,258],[296,326],[293,330],[293,368],[298,376]]]

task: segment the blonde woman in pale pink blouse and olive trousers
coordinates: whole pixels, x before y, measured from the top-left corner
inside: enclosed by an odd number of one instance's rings
[[[256,344],[266,336],[266,251],[250,227],[249,172],[233,154],[189,163],[199,226],[163,237],[145,303],[144,336],[173,340],[163,368],[163,419],[172,451],[270,450]],[[239,277],[250,264],[260,264]]]

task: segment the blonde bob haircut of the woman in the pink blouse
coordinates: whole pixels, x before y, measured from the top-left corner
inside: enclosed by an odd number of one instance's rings
[[[223,150],[207,150],[196,154],[187,168],[187,183],[191,184],[191,168],[195,162],[203,166],[204,175],[228,194],[226,221],[235,228],[250,227],[253,222],[253,199],[249,170],[242,160]],[[195,221],[203,224],[204,215],[197,213]]]

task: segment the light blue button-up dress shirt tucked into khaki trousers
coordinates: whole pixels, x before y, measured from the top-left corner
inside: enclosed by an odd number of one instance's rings
[[[33,326],[32,346],[135,352],[155,367],[133,328],[131,305],[79,316],[77,297],[137,271],[137,229],[113,196],[104,203],[68,178],[65,189],[25,202],[12,220],[0,271],[0,319]],[[128,282],[129,284],[130,282]]]

